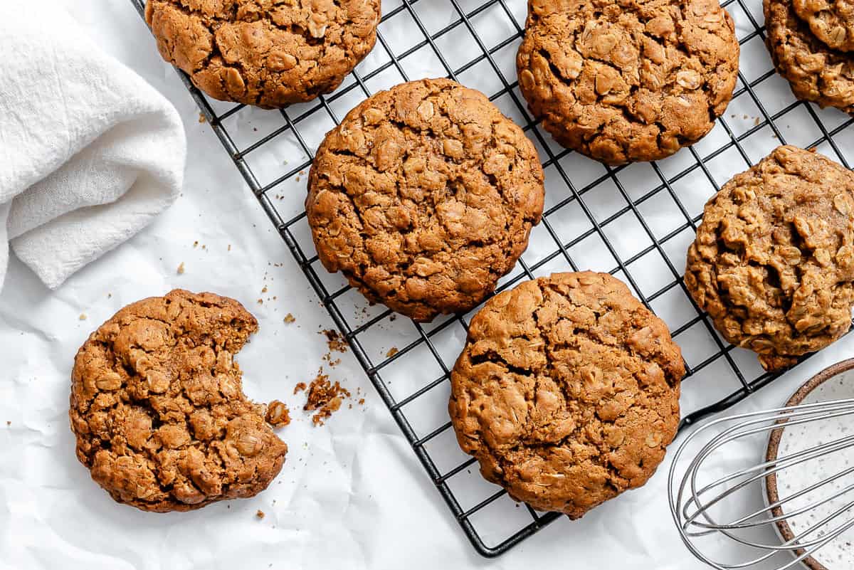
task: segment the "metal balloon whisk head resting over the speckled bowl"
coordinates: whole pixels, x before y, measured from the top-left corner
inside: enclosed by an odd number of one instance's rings
[[[687,548],[721,570],[783,570],[807,559],[819,567],[819,550],[854,550],[854,531],[845,534],[854,526],[852,415],[854,399],[834,400],[730,416],[691,433],[668,478]],[[781,445],[784,428],[792,437]],[[833,429],[839,437],[816,437]]]

